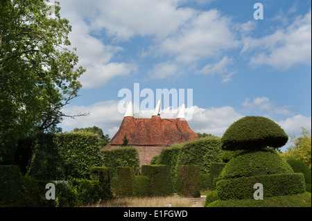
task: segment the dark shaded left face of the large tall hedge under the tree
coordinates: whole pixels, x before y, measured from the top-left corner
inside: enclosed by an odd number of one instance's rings
[[[64,179],[64,157],[54,139],[54,134],[37,134],[28,165],[28,175],[35,179]]]

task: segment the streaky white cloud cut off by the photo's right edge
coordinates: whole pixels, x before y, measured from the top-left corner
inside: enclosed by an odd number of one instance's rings
[[[245,37],[243,42],[241,54],[261,48],[261,52],[250,58],[249,64],[255,68],[266,64],[285,70],[296,64],[311,64],[311,10],[296,17],[285,29],[259,39]]]

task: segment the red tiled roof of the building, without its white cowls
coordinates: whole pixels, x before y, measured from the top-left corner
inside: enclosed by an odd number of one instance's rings
[[[123,143],[127,134],[128,145],[153,145],[164,146],[175,143],[182,143],[198,137],[189,128],[187,121],[180,118],[134,118],[125,116],[110,143],[104,148],[118,146]]]

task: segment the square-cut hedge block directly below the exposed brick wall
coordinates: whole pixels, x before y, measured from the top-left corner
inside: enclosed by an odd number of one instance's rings
[[[142,165],[141,174],[150,178],[150,189],[153,196],[173,194],[173,184],[167,165]]]

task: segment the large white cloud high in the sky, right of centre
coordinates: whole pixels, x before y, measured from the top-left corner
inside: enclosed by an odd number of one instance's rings
[[[171,55],[185,64],[211,58],[239,46],[230,24],[231,20],[220,15],[218,10],[198,12],[175,35],[164,39],[156,47],[157,53]]]

